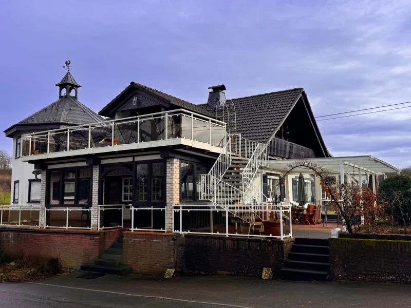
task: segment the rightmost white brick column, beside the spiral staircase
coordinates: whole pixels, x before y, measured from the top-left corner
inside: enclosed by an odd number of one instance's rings
[[[166,232],[173,230],[173,205],[180,203],[180,160],[177,158],[167,159],[166,168]]]

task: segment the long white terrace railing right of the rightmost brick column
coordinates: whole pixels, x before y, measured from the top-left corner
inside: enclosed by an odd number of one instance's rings
[[[261,222],[261,220],[253,217],[247,220],[253,225],[264,225],[264,234],[250,234],[252,228],[243,233],[237,229],[237,222],[230,222],[230,216],[235,212],[238,216],[247,216],[250,213],[249,208],[252,208],[252,213],[259,212],[263,216],[271,216],[269,222]],[[199,214],[207,212],[208,214]],[[231,215],[230,215],[231,214]],[[209,217],[208,220],[203,220],[200,225],[192,226],[193,217],[190,215],[201,215],[201,217]],[[237,217],[238,217],[237,216]],[[218,220],[218,223],[215,220]],[[198,221],[198,220],[194,220]],[[259,238],[276,238],[283,240],[284,238],[292,237],[291,225],[291,205],[270,205],[270,206],[255,206],[255,205],[236,205],[230,208],[229,206],[221,207],[216,205],[198,205],[198,204],[176,204],[173,205],[173,231],[180,234],[202,234],[202,235],[224,235],[226,237],[259,237]],[[204,223],[208,225],[205,226]],[[271,227],[274,225],[274,227]]]

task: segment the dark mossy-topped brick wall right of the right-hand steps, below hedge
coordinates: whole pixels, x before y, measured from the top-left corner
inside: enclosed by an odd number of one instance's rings
[[[411,282],[411,241],[330,239],[331,279]]]

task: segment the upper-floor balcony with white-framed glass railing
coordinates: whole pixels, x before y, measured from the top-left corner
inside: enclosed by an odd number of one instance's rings
[[[226,123],[184,109],[36,132],[22,138],[22,160],[186,145],[220,153]]]

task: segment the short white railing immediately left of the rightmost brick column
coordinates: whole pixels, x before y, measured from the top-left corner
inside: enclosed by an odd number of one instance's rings
[[[167,221],[167,208],[166,207],[131,207],[132,210],[132,231],[154,231],[154,232],[165,232],[166,231],[166,221]],[[156,216],[156,218],[155,218]],[[139,218],[143,222],[139,221]],[[136,221],[135,221],[136,220]],[[164,228],[157,226],[157,222],[160,221],[159,225],[164,225]],[[147,223],[148,222],[148,223]]]

